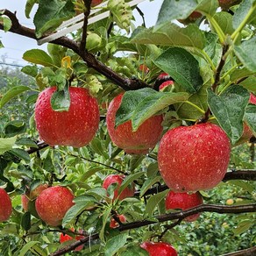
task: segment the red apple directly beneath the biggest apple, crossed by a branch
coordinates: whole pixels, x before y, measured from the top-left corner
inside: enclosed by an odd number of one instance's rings
[[[188,194],[188,193],[175,193],[174,191],[169,191],[166,197],[166,210],[187,210],[189,208],[196,207],[203,204],[203,196],[199,192]],[[196,221],[200,216],[200,213],[196,213],[189,217],[184,218],[187,222]]]

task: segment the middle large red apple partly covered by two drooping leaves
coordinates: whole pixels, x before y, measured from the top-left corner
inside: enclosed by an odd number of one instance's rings
[[[132,132],[132,121],[127,121],[115,128],[116,113],[121,104],[123,94],[116,96],[111,102],[107,111],[107,128],[110,139],[118,147],[124,149],[125,153],[148,153],[160,139],[163,131],[161,122],[163,117],[153,116],[148,118],[139,126],[136,132]]]

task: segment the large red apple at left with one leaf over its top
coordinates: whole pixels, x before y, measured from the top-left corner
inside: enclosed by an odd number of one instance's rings
[[[51,96],[55,87],[44,89],[35,105],[35,121],[39,136],[50,146],[88,145],[94,138],[100,120],[96,98],[83,88],[70,87],[68,111],[54,111]]]

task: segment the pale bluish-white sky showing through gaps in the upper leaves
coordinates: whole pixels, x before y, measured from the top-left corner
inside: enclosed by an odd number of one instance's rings
[[[160,11],[160,5],[163,0],[154,0],[139,4],[139,9],[144,12],[146,19],[146,26],[152,26],[155,24],[158,13]],[[25,18],[25,3],[26,0],[0,0],[0,10],[9,9],[10,11],[17,11],[17,17],[22,25],[33,27],[32,18]],[[35,11],[35,10],[33,10]],[[134,11],[136,18],[136,25],[142,23],[142,19],[139,16],[138,11]],[[6,56],[5,61],[7,63],[15,63],[21,66],[25,66],[27,62],[22,60],[22,55],[25,51],[32,48],[46,49],[46,45],[38,46],[37,42],[33,39],[26,39],[25,37],[15,35],[11,32],[0,31],[0,40],[4,44],[4,48],[0,49],[0,62],[2,62],[2,56]]]

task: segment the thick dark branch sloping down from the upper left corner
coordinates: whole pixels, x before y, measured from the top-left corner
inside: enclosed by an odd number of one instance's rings
[[[0,11],[4,11],[2,15],[6,15],[9,18],[11,18],[12,26],[11,26],[10,32],[37,40],[35,31],[31,28],[20,25],[14,13],[8,10],[0,10]],[[1,23],[0,23],[0,30],[4,30],[4,25]],[[75,53],[81,56],[82,60],[84,60],[87,63],[89,68],[94,68],[97,72],[104,75],[105,77],[110,79],[111,82],[114,82],[124,90],[142,89],[142,88],[149,87],[149,85],[146,84],[146,82],[143,82],[139,79],[127,79],[121,75],[118,75],[112,69],[105,66],[101,61],[96,60],[96,57],[91,53],[81,54],[80,46],[75,42],[75,40],[68,39],[67,37],[61,37],[59,39],[55,39],[51,41],[51,43],[59,46],[68,47],[69,49],[73,50]]]

